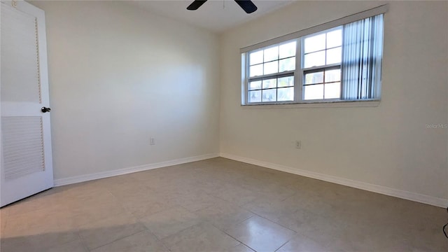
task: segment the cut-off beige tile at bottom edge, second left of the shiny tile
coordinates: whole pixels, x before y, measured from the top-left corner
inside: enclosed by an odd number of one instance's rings
[[[168,251],[168,249],[148,230],[113,241],[92,252],[146,252],[146,251]]]

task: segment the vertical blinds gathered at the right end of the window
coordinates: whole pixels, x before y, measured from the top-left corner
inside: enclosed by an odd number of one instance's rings
[[[342,30],[342,99],[379,98],[383,15],[351,22]]]

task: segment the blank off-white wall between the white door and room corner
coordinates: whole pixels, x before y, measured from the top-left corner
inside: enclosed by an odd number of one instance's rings
[[[55,179],[218,153],[216,35],[119,1],[31,3],[46,17]]]

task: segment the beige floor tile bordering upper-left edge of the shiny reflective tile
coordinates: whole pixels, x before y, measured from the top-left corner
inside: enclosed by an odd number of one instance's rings
[[[221,202],[205,209],[200,209],[195,211],[195,214],[205,221],[209,221],[209,223],[220,230],[228,230],[228,228],[231,228],[233,225],[253,216],[251,211],[225,202]]]

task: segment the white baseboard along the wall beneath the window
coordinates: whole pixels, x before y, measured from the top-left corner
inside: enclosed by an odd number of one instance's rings
[[[412,200],[414,202],[420,202],[420,203],[424,203],[424,204],[430,204],[436,207],[447,207],[448,206],[448,199],[443,199],[440,197],[433,197],[433,196],[429,196],[429,195],[422,195],[419,193],[412,193],[412,192],[408,192],[405,190],[398,190],[395,188],[388,188],[386,186],[378,186],[378,185],[374,185],[371,183],[365,183],[365,182],[361,182],[361,181],[353,181],[351,179],[344,179],[344,178],[340,178],[337,176],[331,176],[331,175],[326,175],[326,174],[320,174],[317,172],[310,172],[307,170],[303,170],[303,169],[297,169],[297,168],[293,168],[293,167],[287,167],[284,165],[276,165],[273,163],[269,163],[269,162],[262,162],[262,161],[258,161],[258,160],[253,160],[250,158],[243,158],[243,157],[239,157],[237,155],[232,155],[232,154],[228,154],[228,153],[221,153],[221,157],[223,158],[228,158],[231,160],[236,160],[239,162],[245,162],[251,165],[258,165],[260,167],[266,167],[269,169],[276,169],[279,170],[281,172],[288,172],[291,174],[297,174],[300,176],[306,176],[312,179],[319,179],[321,181],[328,181],[331,183],[337,183],[339,185],[343,185],[343,186],[350,186],[352,188],[358,188],[358,189],[362,189],[362,190],[367,190],[370,192],[374,192],[374,193],[381,193],[384,195],[389,195],[389,196],[393,196],[393,197],[399,197],[405,200]]]

